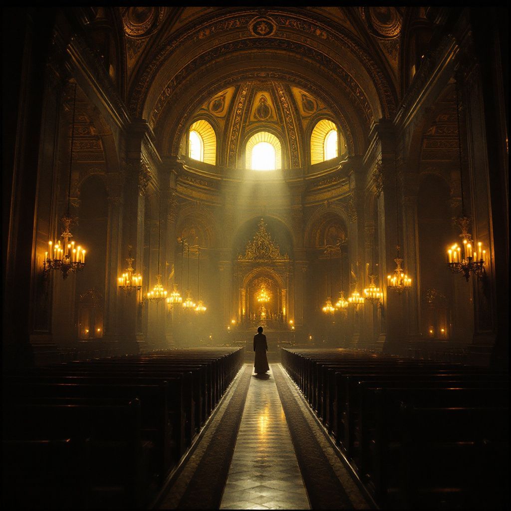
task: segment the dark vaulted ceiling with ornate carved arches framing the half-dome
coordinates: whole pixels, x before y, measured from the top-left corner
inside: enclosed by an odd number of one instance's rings
[[[122,32],[126,103],[149,122],[164,154],[177,154],[182,133],[208,101],[230,91],[224,100],[230,95],[235,105],[246,84],[271,90],[280,104],[275,115],[284,117],[278,90],[285,90],[300,129],[307,115],[295,91],[306,92],[340,125],[349,153],[361,154],[371,124],[396,112],[402,27],[411,9],[116,7],[96,9],[91,25],[108,18]],[[413,9],[426,18],[427,9]]]

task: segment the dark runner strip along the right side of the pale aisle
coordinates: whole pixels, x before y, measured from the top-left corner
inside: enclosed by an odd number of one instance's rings
[[[356,506],[346,495],[304,412],[298,406],[284,379],[283,369],[277,364],[272,364],[271,368],[312,508],[353,509]]]

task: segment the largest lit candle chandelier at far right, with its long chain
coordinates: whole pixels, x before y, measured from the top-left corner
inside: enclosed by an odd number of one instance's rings
[[[470,217],[465,215],[465,205],[463,200],[463,172],[461,170],[461,134],[459,124],[459,100],[458,100],[458,83],[456,81],[456,117],[458,121],[458,159],[459,159],[459,179],[461,185],[461,216],[456,223],[461,228],[459,237],[462,240],[463,253],[461,246],[457,243],[451,245],[447,250],[447,267],[453,273],[462,273],[466,281],[469,282],[470,274],[474,273],[478,278],[484,275],[484,265],[486,263],[486,250],[483,250],[481,242],[472,240],[469,233],[471,224]]]

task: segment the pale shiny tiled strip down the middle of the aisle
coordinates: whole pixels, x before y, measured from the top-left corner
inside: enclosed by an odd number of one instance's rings
[[[252,375],[220,508],[310,509],[271,366]]]

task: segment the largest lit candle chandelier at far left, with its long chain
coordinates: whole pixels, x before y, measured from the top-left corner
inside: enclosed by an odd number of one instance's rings
[[[64,224],[64,230],[60,235],[63,239],[62,245],[60,240],[53,243],[48,242],[48,252],[44,253],[43,273],[48,274],[50,270],[62,271],[62,277],[65,279],[71,272],[77,272],[85,266],[85,249],[80,245],[76,245],[71,234],[71,224],[75,221],[70,214],[71,205],[71,170],[73,167],[73,146],[75,142],[75,112],[76,112],[76,83],[75,94],[73,99],[73,123],[71,125],[71,155],[69,156],[69,185],[67,189],[67,210],[66,214],[61,218]],[[75,246],[76,245],[76,246]]]

